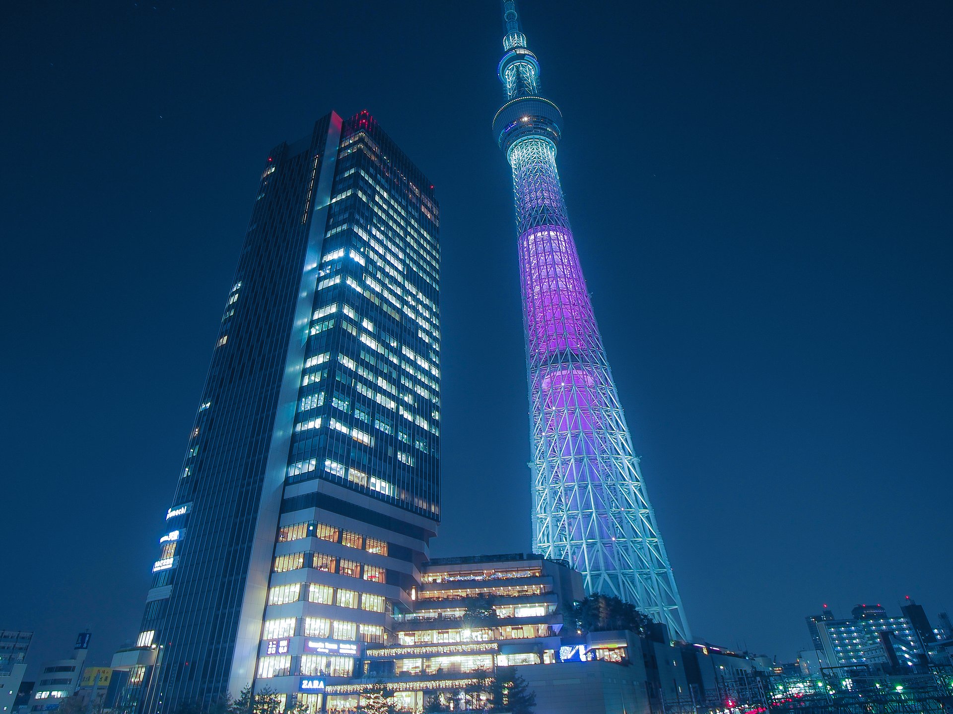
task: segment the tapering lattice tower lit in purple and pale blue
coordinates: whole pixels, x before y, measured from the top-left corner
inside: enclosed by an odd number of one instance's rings
[[[602,592],[639,606],[672,635],[689,629],[586,291],[556,148],[558,107],[539,94],[539,63],[503,2],[506,103],[493,121],[513,168],[532,412],[533,539]]]

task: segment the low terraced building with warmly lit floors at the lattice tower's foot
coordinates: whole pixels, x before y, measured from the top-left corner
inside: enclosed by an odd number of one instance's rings
[[[299,690],[320,692],[328,712],[356,710],[362,693],[381,684],[400,711],[420,711],[433,699],[468,710],[485,703],[489,682],[505,671],[526,681],[546,714],[730,707],[763,691],[757,680],[772,663],[672,641],[664,625],[647,621],[585,631],[573,614],[583,598],[577,571],[537,555],[433,560],[421,567],[413,606],[395,609],[390,641],[360,651],[357,676],[341,681],[317,671],[300,678]],[[330,657],[341,645],[309,646]]]

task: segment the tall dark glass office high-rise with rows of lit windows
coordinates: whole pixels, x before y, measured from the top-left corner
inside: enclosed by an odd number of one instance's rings
[[[122,708],[317,710],[390,642],[440,515],[438,221],[366,111],[268,154]]]

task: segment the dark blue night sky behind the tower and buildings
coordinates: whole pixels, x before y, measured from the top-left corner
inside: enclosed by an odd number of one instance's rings
[[[699,638],[953,608],[953,5],[523,0],[582,266]],[[496,0],[4,15],[0,627],[134,638],[267,151],[369,109],[436,185],[443,515],[525,551]]]

